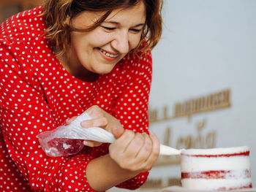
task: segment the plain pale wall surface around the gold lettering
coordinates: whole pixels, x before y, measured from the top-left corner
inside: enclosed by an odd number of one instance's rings
[[[163,8],[150,106],[171,108],[228,88],[231,107],[193,115],[190,121],[152,124],[151,131],[162,139],[165,126],[171,126],[174,147],[176,137],[195,134],[195,124],[205,119],[204,132],[217,133],[216,147],[249,146],[256,187],[256,1],[165,0]],[[179,174],[175,166],[155,167],[150,178]]]

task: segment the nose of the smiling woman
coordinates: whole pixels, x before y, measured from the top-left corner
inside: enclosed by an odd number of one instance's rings
[[[121,54],[129,52],[129,34],[127,31],[118,31],[111,42],[111,46]]]

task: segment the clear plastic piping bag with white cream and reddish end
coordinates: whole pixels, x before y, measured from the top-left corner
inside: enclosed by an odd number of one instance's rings
[[[50,157],[75,155],[83,149],[83,140],[92,140],[102,143],[113,143],[116,138],[103,128],[83,128],[81,121],[91,120],[91,117],[83,112],[69,125],[59,126],[52,131],[44,131],[38,135],[42,150]],[[160,145],[159,155],[180,155],[181,150],[166,145]]]

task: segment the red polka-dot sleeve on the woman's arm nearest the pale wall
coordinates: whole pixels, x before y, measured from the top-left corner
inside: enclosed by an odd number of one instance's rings
[[[127,63],[127,64],[126,64]],[[124,61],[127,67],[127,86],[118,98],[115,116],[125,129],[148,134],[148,96],[151,88],[152,59],[148,51],[140,58]],[[145,183],[148,172],[121,183],[117,187],[136,189]]]

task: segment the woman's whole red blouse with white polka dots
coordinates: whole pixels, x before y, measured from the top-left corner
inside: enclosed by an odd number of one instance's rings
[[[56,59],[43,31],[42,7],[12,16],[0,34],[0,191],[94,191],[86,165],[108,145],[84,147],[78,155],[50,158],[37,134],[97,104],[124,128],[148,133],[151,53],[127,55],[109,74],[83,82]],[[118,185],[140,187],[148,172]],[[33,188],[33,190],[31,189]]]

